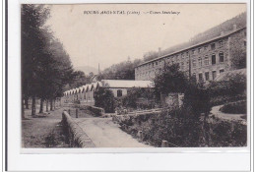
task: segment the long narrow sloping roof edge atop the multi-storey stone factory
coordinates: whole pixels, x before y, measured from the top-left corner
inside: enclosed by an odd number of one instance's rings
[[[246,28],[246,27],[243,27],[243,28],[241,28],[241,29],[245,29],[245,28]],[[177,53],[179,53],[179,52],[182,52],[182,51],[185,51],[185,50],[188,50],[188,49],[191,49],[191,48],[195,48],[195,47],[200,46],[200,45],[205,44],[205,43],[208,43],[208,42],[211,42],[211,41],[220,39],[220,38],[224,38],[225,36],[228,36],[228,35],[230,35],[230,34],[233,34],[233,33],[237,32],[237,31],[239,31],[239,30],[241,30],[241,29],[231,30],[231,31],[228,31],[228,32],[226,32],[226,33],[224,33],[224,34],[221,34],[221,35],[217,36],[217,37],[214,37],[214,38],[208,39],[208,40],[206,40],[206,41],[203,41],[203,42],[200,42],[200,43],[191,45],[191,46],[189,46],[189,47],[187,47],[187,48],[183,48],[183,49],[180,49],[180,50],[178,50],[178,51],[174,51],[174,52],[172,52],[172,53],[162,55],[162,56],[160,56],[160,57],[158,57],[158,58],[156,58],[156,59],[153,59],[153,60],[144,62],[144,63],[138,65],[137,67],[143,66],[143,65],[145,65],[145,64],[148,64],[148,63],[151,63],[151,62],[160,60],[161,58],[164,58],[164,57],[167,57],[167,56],[170,56],[170,55],[173,55],[173,54],[177,54]],[[137,68],[137,67],[135,67],[135,68]]]

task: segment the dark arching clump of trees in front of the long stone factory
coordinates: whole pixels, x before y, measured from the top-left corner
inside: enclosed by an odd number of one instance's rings
[[[203,84],[196,84],[195,80],[179,70],[177,64],[166,66],[155,78],[155,93],[168,94],[170,92],[184,93],[183,106],[189,109],[194,117],[201,113],[206,115],[210,112],[209,91]]]

